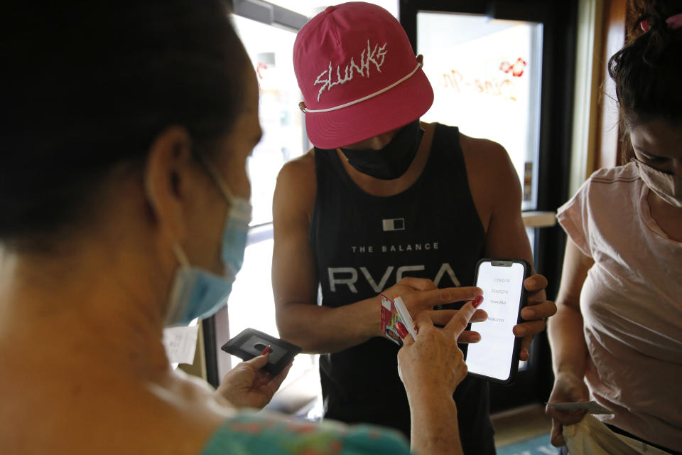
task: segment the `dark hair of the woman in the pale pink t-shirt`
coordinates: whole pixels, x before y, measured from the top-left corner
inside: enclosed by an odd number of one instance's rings
[[[627,43],[609,60],[623,132],[651,119],[682,119],[682,28],[666,19],[682,13],[682,0],[632,0]],[[643,31],[640,24],[648,23]],[[625,141],[629,144],[629,141]]]

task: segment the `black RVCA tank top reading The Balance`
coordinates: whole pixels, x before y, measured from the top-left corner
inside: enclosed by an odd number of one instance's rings
[[[457,128],[435,124],[426,167],[410,188],[395,196],[362,191],[335,151],[315,149],[315,173],[310,242],[322,305],[337,307],[376,296],[401,277],[429,278],[438,287],[472,286],[485,230],[472,200]],[[398,349],[377,337],[321,355],[325,417],[394,427],[409,437]],[[455,390],[455,401],[465,453],[494,453],[487,383],[467,378]]]

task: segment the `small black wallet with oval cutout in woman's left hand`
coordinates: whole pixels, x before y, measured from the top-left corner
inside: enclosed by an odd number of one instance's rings
[[[273,375],[278,375],[286,365],[291,363],[296,354],[301,352],[298,346],[257,331],[255,328],[245,328],[242,333],[225,343],[221,349],[237,355],[242,360],[251,360],[261,355],[268,346],[272,349],[270,359],[262,369]]]

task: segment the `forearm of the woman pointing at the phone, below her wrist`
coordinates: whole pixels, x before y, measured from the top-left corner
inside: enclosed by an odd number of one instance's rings
[[[462,443],[457,406],[452,395],[429,396],[428,391],[408,392],[411,449],[419,455],[460,455]]]

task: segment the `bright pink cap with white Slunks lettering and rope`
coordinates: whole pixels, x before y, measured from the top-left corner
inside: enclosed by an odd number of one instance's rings
[[[362,1],[329,6],[310,19],[296,36],[293,69],[308,137],[320,149],[399,128],[433,103],[400,23]]]

